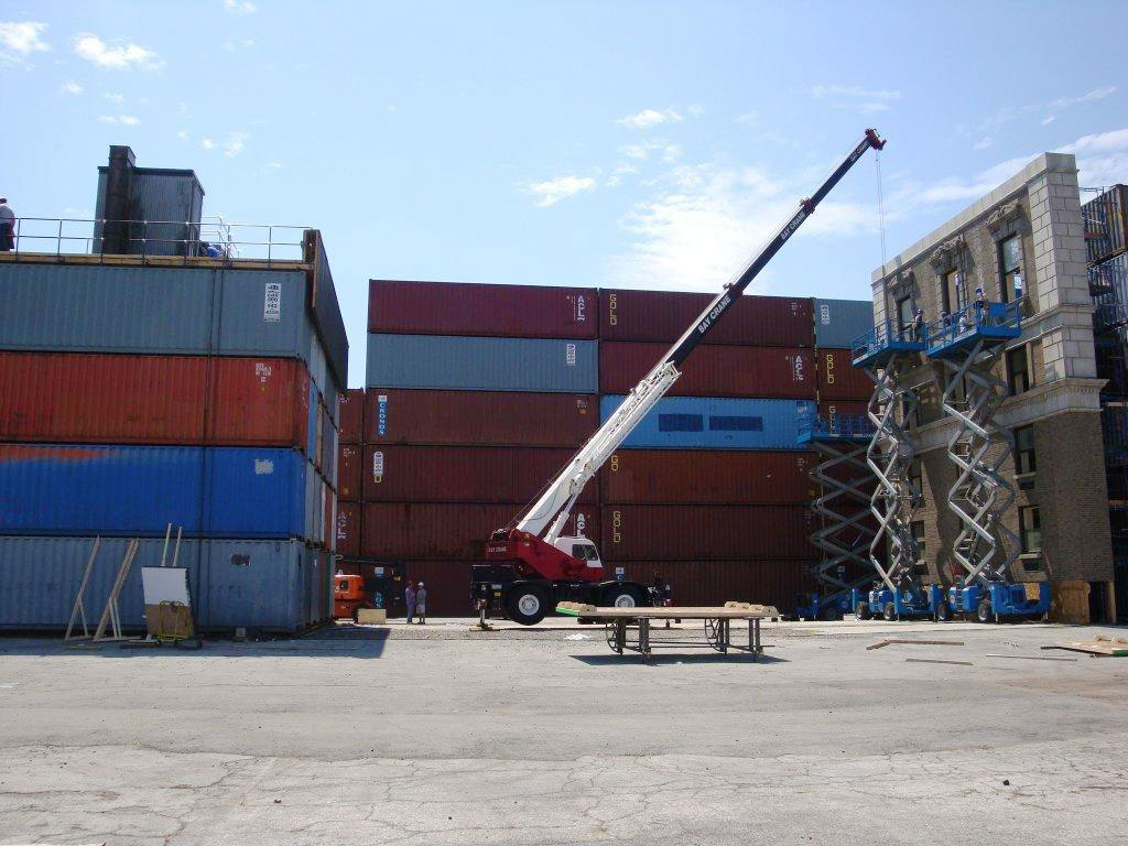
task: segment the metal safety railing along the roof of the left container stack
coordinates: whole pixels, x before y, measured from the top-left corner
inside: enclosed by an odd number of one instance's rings
[[[267,264],[303,259],[303,233],[311,227],[229,222],[220,217],[200,222],[106,220],[94,218],[17,218],[15,255],[134,255],[252,259]],[[125,248],[122,249],[122,245]]]

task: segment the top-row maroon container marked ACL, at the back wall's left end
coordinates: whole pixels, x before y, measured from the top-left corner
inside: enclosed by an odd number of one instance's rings
[[[414,335],[594,338],[593,288],[397,282],[368,288],[368,331]]]

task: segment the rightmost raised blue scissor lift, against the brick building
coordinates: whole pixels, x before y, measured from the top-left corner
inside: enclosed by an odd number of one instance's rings
[[[1019,302],[977,302],[927,332],[927,355],[944,365],[944,413],[957,423],[948,456],[957,479],[948,506],[961,528],[952,556],[963,574],[948,591],[946,611],[975,614],[981,623],[1004,616],[1039,616],[1049,610],[1049,585],[1030,598],[1025,585],[1008,581],[1017,558],[1017,537],[1002,521],[1014,503],[1014,485],[1001,473],[1014,452],[1010,430],[995,424],[1006,384],[993,372],[1007,341],[1022,334]],[[1002,540],[1002,544],[999,544]]]

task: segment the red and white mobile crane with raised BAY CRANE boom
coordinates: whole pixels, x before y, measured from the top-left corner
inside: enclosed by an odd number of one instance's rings
[[[623,404],[573,456],[572,460],[541,490],[509,526],[490,536],[485,557],[491,564],[473,567],[472,591],[483,619],[487,611],[501,611],[523,625],[535,625],[559,601],[631,608],[662,601],[661,588],[636,582],[606,580],[596,545],[580,535],[564,535],[580,493],[681,376],[689,354],[708,336],[737,298],[772,261],[800,226],[811,217],[862,155],[881,150],[884,140],[869,129],[830,176],[799,208],[751,263],[725,284],[700,316],[686,329],[654,368],[636,385]]]

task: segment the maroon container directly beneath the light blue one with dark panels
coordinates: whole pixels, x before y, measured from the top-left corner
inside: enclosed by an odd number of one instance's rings
[[[810,452],[624,449],[600,470],[613,504],[799,505],[816,495]]]

